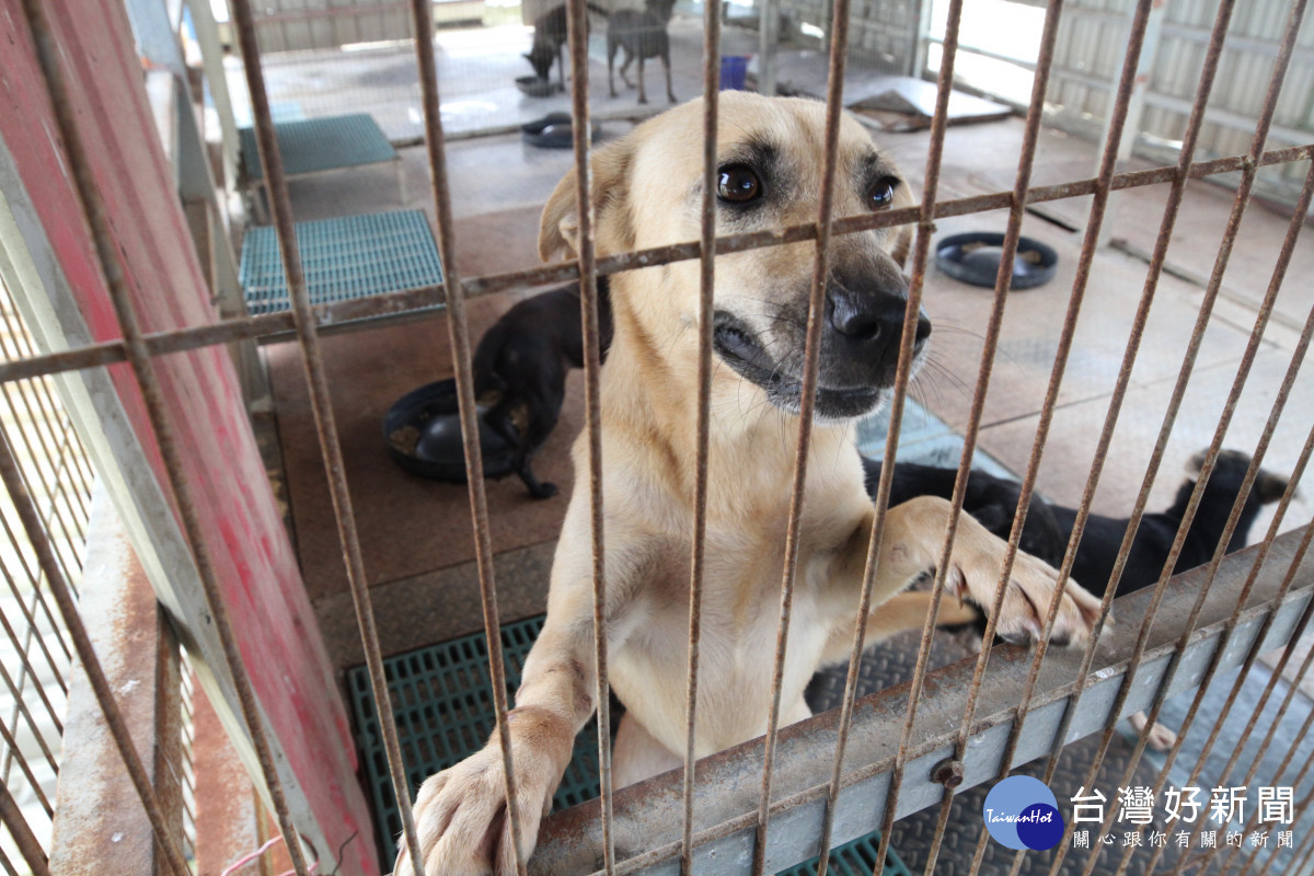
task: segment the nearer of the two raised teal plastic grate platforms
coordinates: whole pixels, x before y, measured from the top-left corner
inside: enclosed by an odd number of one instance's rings
[[[311,305],[443,282],[438,244],[422,210],[297,222],[296,231]],[[238,281],[251,315],[290,307],[283,251],[273,227],[247,231]]]

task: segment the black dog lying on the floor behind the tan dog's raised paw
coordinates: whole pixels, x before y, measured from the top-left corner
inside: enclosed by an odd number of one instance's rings
[[[1131,552],[1122,570],[1122,578],[1118,580],[1118,595],[1150,587],[1159,580],[1164,563],[1168,562],[1172,542],[1177,537],[1177,528],[1181,525],[1187,506],[1190,503],[1190,494],[1196,489],[1194,478],[1200,474],[1204,457],[1204,452],[1192,457],[1187,469],[1192,477],[1188,477],[1177,487],[1177,498],[1168,510],[1142,516],[1141,527],[1131,541]],[[863,466],[867,474],[867,491],[875,498],[880,481],[880,464],[863,460]],[[1187,538],[1173,566],[1173,574],[1202,566],[1213,559],[1248,468],[1250,457],[1247,454],[1239,450],[1219,453],[1213,474],[1205,485],[1200,506],[1196,508],[1196,516],[1187,531]],[[954,490],[955,474],[949,469],[896,462],[890,504],[894,506],[928,494],[947,499]],[[1255,523],[1259,510],[1279,500],[1285,490],[1286,478],[1263,469],[1259,471],[1254,487],[1246,496],[1236,529],[1227,544],[1229,553],[1246,546],[1250,527]],[[1008,538],[1013,527],[1013,516],[1017,512],[1017,483],[984,471],[972,471],[967,479],[963,510],[996,536]],[[1077,545],[1076,558],[1072,563],[1072,578],[1092,592],[1108,590],[1127,523],[1126,519],[1097,514],[1092,514],[1087,519],[1085,531],[1081,533],[1081,542]],[[1075,524],[1075,510],[1050,504],[1041,496],[1033,496],[1022,525],[1020,546],[1058,567],[1063,562],[1063,552],[1067,549]],[[976,630],[979,634],[984,634],[984,616],[978,620]],[[1138,733],[1144,729],[1147,718],[1143,712],[1133,714],[1130,720]],[[1150,745],[1158,750],[1171,747],[1175,738],[1172,730],[1163,725],[1155,725],[1150,732]]]

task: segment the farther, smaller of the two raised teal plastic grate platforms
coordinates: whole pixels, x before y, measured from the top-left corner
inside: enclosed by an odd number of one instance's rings
[[[276,122],[283,172],[288,176],[336,171],[361,164],[398,160],[397,150],[388,142],[378,122],[369,113],[305,118]],[[242,169],[247,179],[264,179],[255,129],[238,129]]]

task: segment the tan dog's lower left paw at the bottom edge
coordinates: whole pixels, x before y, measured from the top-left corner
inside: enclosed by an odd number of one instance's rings
[[[543,709],[514,709],[509,720],[520,856],[528,858],[537,841],[539,822],[551,812],[552,793],[570,759],[573,734],[562,718]],[[562,734],[564,755],[557,745]],[[502,745],[494,733],[481,751],[420,785],[415,831],[426,876],[515,876],[505,775]],[[405,837],[398,842],[402,848],[393,873],[414,876]]]

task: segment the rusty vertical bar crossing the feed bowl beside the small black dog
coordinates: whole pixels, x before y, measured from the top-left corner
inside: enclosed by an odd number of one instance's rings
[[[432,4],[411,0],[411,26],[415,32],[415,55],[419,63],[420,95],[424,104],[424,146],[428,158],[430,194],[438,217],[438,246],[443,263],[443,292],[447,306],[447,334],[452,347],[452,366],[456,373],[456,397],[461,419],[461,444],[465,450],[465,479],[470,496],[470,516],[474,521],[474,553],[480,577],[480,600],[484,611],[484,633],[487,637],[489,674],[493,684],[493,708],[502,747],[503,789],[507,800],[507,820],[511,825],[511,855],[516,872],[524,875],[520,806],[516,796],[515,768],[511,755],[511,734],[507,728],[506,665],[502,655],[501,613],[497,604],[497,582],[493,567],[493,542],[489,525],[487,494],[484,485],[484,452],[480,445],[478,411],[474,403],[473,345],[465,317],[465,296],[456,265],[456,236],[452,219],[451,185],[447,177],[447,143],[443,135],[443,116],[439,110],[438,60],[432,29]],[[572,47],[572,56],[577,51]],[[577,131],[578,137],[578,131]],[[587,310],[586,307],[582,307]],[[396,742],[396,739],[394,739]],[[392,759],[392,758],[389,758]],[[414,830],[407,830],[407,844],[414,843]],[[413,856],[419,876],[420,862]]]

